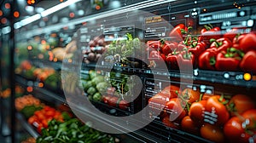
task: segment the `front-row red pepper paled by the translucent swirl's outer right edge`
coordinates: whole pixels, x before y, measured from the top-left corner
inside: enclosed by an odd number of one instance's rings
[[[189,68],[195,66],[195,55],[189,53],[188,49],[184,49],[180,54],[177,56],[178,66],[184,68]]]

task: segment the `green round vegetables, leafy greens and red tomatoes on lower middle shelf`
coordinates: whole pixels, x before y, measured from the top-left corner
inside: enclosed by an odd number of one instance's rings
[[[131,97],[131,91],[129,91],[127,77],[124,74],[111,72],[103,76],[99,72],[90,70],[88,75],[84,75],[82,85],[89,100],[102,101],[108,106],[128,110],[129,103],[125,99]]]

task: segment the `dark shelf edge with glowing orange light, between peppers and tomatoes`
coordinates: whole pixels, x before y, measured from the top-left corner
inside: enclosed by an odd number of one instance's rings
[[[183,72],[175,70],[160,70],[160,69],[141,69],[141,68],[133,68],[127,66],[113,66],[113,65],[102,65],[96,66],[95,64],[83,64],[82,69],[115,69],[120,70],[122,72],[133,72],[138,75],[159,75],[163,77],[171,77],[171,78],[186,78],[192,79],[194,81],[201,81],[207,83],[221,83],[228,84],[234,86],[241,86],[246,88],[256,88],[256,75],[246,72],[218,72],[218,71],[207,71],[201,69],[194,69],[191,72]],[[81,72],[83,73],[83,72]]]

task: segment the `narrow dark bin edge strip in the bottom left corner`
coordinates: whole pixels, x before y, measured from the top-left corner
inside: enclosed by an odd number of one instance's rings
[[[18,118],[20,124],[24,127],[24,129],[26,129],[26,131],[31,134],[33,138],[37,139],[40,136],[40,134],[38,134],[38,132],[33,129],[32,125],[27,123],[25,117],[23,117],[20,112],[16,112],[16,117]]]

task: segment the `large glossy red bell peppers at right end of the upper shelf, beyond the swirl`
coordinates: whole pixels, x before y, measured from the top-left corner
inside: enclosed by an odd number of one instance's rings
[[[216,32],[212,31],[211,34]],[[256,43],[255,33],[242,33],[242,29],[234,28],[209,41],[211,45],[199,57],[201,69],[256,73],[253,64],[256,60],[256,48],[253,46]]]

